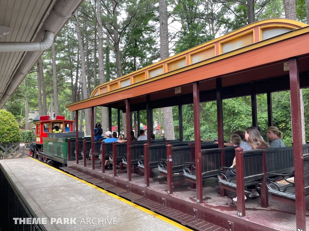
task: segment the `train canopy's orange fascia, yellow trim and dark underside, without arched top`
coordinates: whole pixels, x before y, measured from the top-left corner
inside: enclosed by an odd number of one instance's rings
[[[308,43],[306,26],[66,107],[74,111],[111,106],[125,111],[125,99],[129,98],[132,111],[137,110],[134,104],[144,110],[146,95],[150,95],[151,108],[193,103],[193,82],[200,82],[201,102],[212,101],[219,77],[223,99],[250,95],[252,81],[256,82],[257,94],[289,90],[289,71],[283,66],[291,57],[299,60],[301,87],[308,87]],[[175,93],[176,87],[181,87],[181,93]]]

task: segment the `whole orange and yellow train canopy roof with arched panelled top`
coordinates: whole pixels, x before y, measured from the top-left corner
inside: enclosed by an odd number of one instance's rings
[[[223,98],[250,95],[250,91],[246,91],[248,86],[242,84],[273,77],[284,78],[289,74],[290,57],[298,57],[300,71],[309,70],[308,43],[309,27],[305,23],[283,18],[261,20],[101,84],[90,98],[66,107],[74,111],[111,106],[122,107],[125,111],[124,100],[129,98],[131,107],[140,104],[139,110],[145,110],[146,95],[150,95],[152,102],[158,102],[152,108],[178,105],[176,96],[185,98],[186,94],[188,99],[182,100],[182,103],[192,103],[189,98],[192,98],[192,83],[196,81],[200,82],[201,94],[205,93],[201,100],[210,101],[215,100],[215,79],[218,77],[222,77],[223,90],[226,91]],[[282,78],[276,79],[280,87],[271,90],[289,89]],[[228,89],[233,85],[238,87],[238,91]],[[269,91],[269,84],[263,82],[261,85],[257,94]]]

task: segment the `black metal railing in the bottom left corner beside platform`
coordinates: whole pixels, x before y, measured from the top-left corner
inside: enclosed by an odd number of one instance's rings
[[[32,222],[37,218],[36,214],[19,192],[16,185],[13,183],[11,177],[7,174],[5,169],[0,164],[0,230],[1,231],[11,231],[11,230],[31,230],[31,231],[47,231],[47,229],[42,224],[32,224],[41,223]],[[16,220],[13,218],[24,218],[24,220]],[[26,222],[28,220],[31,221]],[[30,219],[29,219],[30,218]],[[17,224],[15,224],[17,223]],[[30,223],[30,224],[26,224]]]

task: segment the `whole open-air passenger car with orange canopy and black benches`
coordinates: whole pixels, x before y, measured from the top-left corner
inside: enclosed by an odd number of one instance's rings
[[[109,130],[112,108],[130,115],[126,117],[130,137],[132,111],[139,115],[146,110],[147,128],[152,128],[153,108],[178,106],[179,140],[153,142],[149,129],[147,143],[102,142],[102,159],[110,156],[124,162],[120,169],[114,164],[113,169],[105,170],[100,160],[80,163],[78,158],[68,159],[68,167],[63,169],[197,230],[306,230],[309,158],[307,144],[302,144],[299,89],[309,87],[308,44],[307,24],[267,19],[99,85],[89,99],[66,106],[75,111],[76,129],[78,111],[91,108],[93,132],[94,107],[104,106],[109,109]],[[271,94],[287,90],[293,147],[245,152],[224,147],[223,99],[250,95],[252,124],[248,126],[257,126],[256,95],[267,93],[268,125],[272,126]],[[218,112],[216,146],[201,142],[200,134],[200,102],[214,100]],[[185,142],[182,105],[189,103],[193,103],[195,137]],[[92,136],[92,148],[94,144]],[[234,156],[237,175],[226,181],[224,172]],[[291,190],[271,186],[279,177],[289,176],[295,179]],[[245,204],[244,186],[249,183],[261,186],[261,196],[248,198]],[[235,196],[237,203],[231,200]]]

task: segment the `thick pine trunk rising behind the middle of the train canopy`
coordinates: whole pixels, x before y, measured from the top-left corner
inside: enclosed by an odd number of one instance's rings
[[[167,0],[159,0],[160,14],[160,56],[161,60],[169,57],[168,53],[168,13]],[[175,140],[173,111],[171,107],[163,108],[164,134],[167,140]]]

